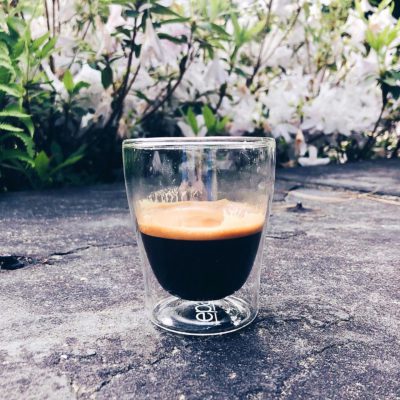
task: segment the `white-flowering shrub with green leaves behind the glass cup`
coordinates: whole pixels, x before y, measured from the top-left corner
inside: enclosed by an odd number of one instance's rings
[[[85,150],[107,178],[135,136],[269,135],[283,165],[397,156],[398,10],[353,3],[45,0],[0,23],[54,47],[22,82],[37,152]]]

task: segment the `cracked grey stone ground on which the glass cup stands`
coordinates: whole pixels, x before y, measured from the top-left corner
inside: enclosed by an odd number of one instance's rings
[[[2,195],[0,398],[399,399],[399,188],[398,161],[279,171],[260,314],[211,338],[147,321],[121,184]]]

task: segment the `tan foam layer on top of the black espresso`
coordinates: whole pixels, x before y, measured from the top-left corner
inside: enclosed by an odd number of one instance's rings
[[[136,203],[140,232],[176,240],[233,239],[260,232],[265,214],[229,200]]]

